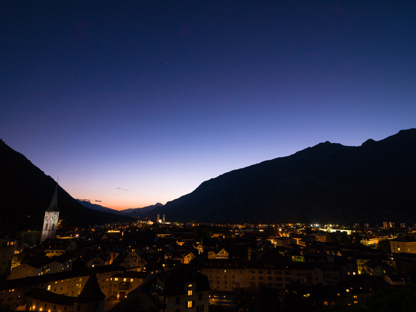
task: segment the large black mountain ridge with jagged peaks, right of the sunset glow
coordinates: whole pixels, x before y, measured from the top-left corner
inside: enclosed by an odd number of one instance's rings
[[[324,142],[207,180],[149,216],[248,223],[413,222],[416,130],[361,146]]]

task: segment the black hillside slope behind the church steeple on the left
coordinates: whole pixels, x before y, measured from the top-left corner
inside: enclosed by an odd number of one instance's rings
[[[40,230],[56,182],[0,140],[0,231]],[[65,225],[87,226],[131,220],[123,216],[87,209],[58,187],[60,218]]]

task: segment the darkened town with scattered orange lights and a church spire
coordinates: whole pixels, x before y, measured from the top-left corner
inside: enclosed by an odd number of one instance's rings
[[[42,231],[1,239],[1,310],[327,311],[404,288],[416,268],[404,223],[61,221],[55,189]]]

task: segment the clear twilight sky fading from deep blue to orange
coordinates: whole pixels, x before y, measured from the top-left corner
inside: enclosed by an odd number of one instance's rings
[[[416,126],[415,1],[2,1],[0,139],[73,198],[163,204]]]

